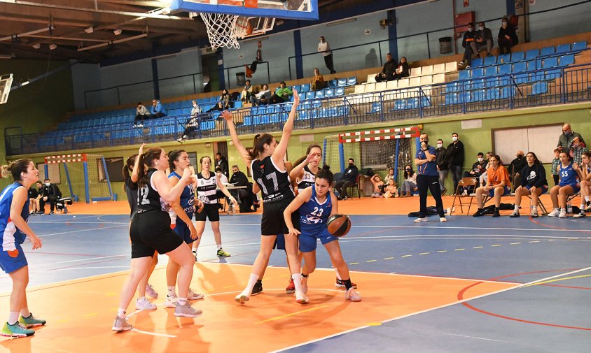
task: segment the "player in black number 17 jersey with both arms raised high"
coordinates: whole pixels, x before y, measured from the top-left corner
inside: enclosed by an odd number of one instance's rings
[[[293,92],[293,106],[289,112],[289,117],[283,127],[281,141],[277,143],[270,134],[257,134],[254,136],[253,148],[251,152],[240,142],[232,122],[232,114],[228,111],[222,113],[222,117],[228,123],[228,130],[232,136],[234,146],[246,162],[251,166],[253,180],[257,187],[263,192],[263,221],[260,224],[260,250],[253,264],[249,283],[242,293],[238,294],[235,300],[244,304],[249,300],[252,289],[267,267],[269,257],[275,240],[279,236],[284,236],[287,257],[289,259],[289,269],[291,278],[296,286],[296,301],[301,304],[308,303],[307,296],[302,291],[302,282],[300,277],[300,262],[298,261],[298,237],[288,235],[288,229],[283,219],[283,210],[296,197],[291,187],[289,174],[285,167],[285,154],[291,131],[293,131],[293,120],[296,119],[296,109],[300,99],[298,92]],[[293,213],[293,223],[298,224],[298,212]]]

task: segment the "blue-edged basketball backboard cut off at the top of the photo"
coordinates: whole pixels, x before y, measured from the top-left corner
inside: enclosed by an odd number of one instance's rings
[[[242,17],[318,20],[318,0],[172,0],[170,8]]]

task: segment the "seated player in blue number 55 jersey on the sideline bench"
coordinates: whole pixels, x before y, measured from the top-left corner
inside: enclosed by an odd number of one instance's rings
[[[579,180],[580,168],[576,163],[573,163],[571,156],[566,152],[560,152],[558,158],[558,175],[560,182],[555,187],[550,189],[550,199],[552,199],[552,212],[548,213],[549,217],[566,217],[566,199],[570,195],[578,193],[580,190]]]

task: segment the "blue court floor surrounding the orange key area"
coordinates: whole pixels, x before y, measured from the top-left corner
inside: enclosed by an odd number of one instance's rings
[[[340,240],[349,269],[524,285],[470,301],[462,301],[459,293],[453,305],[282,351],[591,352],[587,219],[457,216],[445,224],[436,220],[431,217],[431,222],[414,224],[412,218],[401,215],[353,215],[351,231]],[[43,239],[39,251],[30,251],[25,244],[29,289],[129,268],[129,217],[125,215],[46,215],[31,217],[29,224]],[[260,215],[222,216],[221,232],[223,247],[232,256],[216,257],[207,224],[200,261],[251,265],[260,242]],[[331,267],[321,245],[317,257],[319,268]],[[166,260],[160,256],[158,266]],[[270,266],[285,265],[284,252],[275,251]],[[363,282],[355,280],[355,272],[352,280],[363,295]],[[163,291],[164,284],[160,287]],[[3,294],[11,288],[8,275],[0,276],[0,288]],[[88,300],[92,303],[92,298]],[[207,305],[202,309],[207,310]],[[3,349],[0,346],[0,352]]]

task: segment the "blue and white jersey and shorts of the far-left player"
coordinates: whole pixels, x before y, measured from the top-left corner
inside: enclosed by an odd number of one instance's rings
[[[17,189],[24,187],[20,182],[8,185],[0,195],[0,268],[12,273],[28,265],[25,252],[20,246],[27,235],[18,229],[11,219],[11,204]],[[29,220],[29,198],[20,212],[25,222]]]

